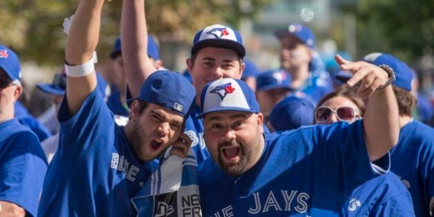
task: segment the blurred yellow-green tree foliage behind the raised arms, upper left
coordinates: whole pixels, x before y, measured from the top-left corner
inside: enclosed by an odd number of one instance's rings
[[[191,43],[200,28],[213,23],[238,27],[273,0],[149,0],[149,32],[167,40]],[[66,35],[63,19],[74,14],[78,0],[1,0],[0,43],[17,50],[23,61],[59,65]],[[107,2],[103,10],[99,50],[110,52],[119,34],[122,1]]]

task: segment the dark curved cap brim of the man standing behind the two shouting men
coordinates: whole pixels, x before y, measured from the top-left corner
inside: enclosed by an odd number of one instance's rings
[[[240,45],[240,43],[229,40],[229,39],[205,39],[203,41],[199,41],[192,48],[192,55],[198,52],[202,48],[206,47],[217,47],[217,48],[227,48],[230,50],[234,50],[238,55],[242,58],[246,55],[246,50],[244,46]]]

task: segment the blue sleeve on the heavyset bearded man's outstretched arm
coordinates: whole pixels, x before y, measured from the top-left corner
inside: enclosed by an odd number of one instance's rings
[[[324,159],[324,165],[329,165],[331,174],[337,173],[336,176],[344,179],[347,191],[389,171],[389,154],[376,161],[377,165],[371,163],[364,141],[362,120],[350,125],[338,122],[317,129],[320,158]],[[334,168],[342,169],[336,172]]]

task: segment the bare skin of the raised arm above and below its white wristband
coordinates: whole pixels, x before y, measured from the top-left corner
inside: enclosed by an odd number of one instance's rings
[[[81,65],[92,59],[99,39],[101,10],[104,0],[81,0],[77,8],[65,48],[65,63]],[[66,97],[71,115],[79,111],[86,97],[96,87],[94,72],[86,76],[67,76]]]

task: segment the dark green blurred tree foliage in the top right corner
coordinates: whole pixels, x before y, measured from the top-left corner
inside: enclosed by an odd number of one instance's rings
[[[434,1],[364,0],[355,12],[361,55],[391,52],[411,62],[434,48]]]

